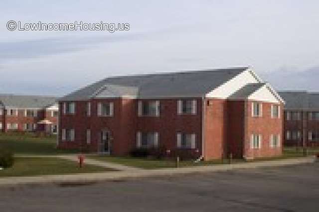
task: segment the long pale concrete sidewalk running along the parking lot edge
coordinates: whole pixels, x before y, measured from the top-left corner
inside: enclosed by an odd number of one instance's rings
[[[70,158],[72,159],[72,158]],[[73,159],[72,159],[73,160]],[[314,156],[307,158],[283,159],[276,161],[260,161],[251,163],[236,163],[227,165],[214,166],[196,166],[185,168],[165,168],[155,170],[145,169],[126,169],[118,172],[104,172],[104,173],[90,173],[90,174],[73,174],[73,175],[46,175],[35,177],[7,177],[0,178],[0,186],[17,186],[24,184],[47,184],[47,183],[89,183],[108,180],[121,180],[137,177],[151,177],[151,176],[172,176],[177,174],[195,174],[205,172],[220,172],[234,169],[250,169],[262,167],[278,167],[287,165],[296,165],[303,163],[314,163],[316,158]],[[96,162],[94,162],[96,163]],[[103,162],[104,163],[104,162]],[[117,165],[116,165],[117,166]]]

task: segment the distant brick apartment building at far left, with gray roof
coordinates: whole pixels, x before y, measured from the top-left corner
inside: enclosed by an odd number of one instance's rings
[[[0,131],[57,133],[56,98],[0,95]]]

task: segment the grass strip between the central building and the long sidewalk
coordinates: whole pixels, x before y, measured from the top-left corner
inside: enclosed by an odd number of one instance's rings
[[[309,155],[313,155],[319,152],[319,148],[309,148]],[[162,159],[155,160],[150,158],[133,158],[133,157],[113,157],[113,156],[89,156],[92,159],[107,161],[112,163],[118,163],[126,166],[132,166],[143,169],[159,169],[159,168],[174,168],[176,167],[176,163],[174,160]],[[298,151],[296,148],[285,148],[283,155],[279,157],[272,158],[256,158],[255,160],[251,160],[249,162],[254,161],[271,161],[271,160],[280,160],[280,159],[288,159],[294,157],[303,157],[303,151],[300,148]],[[245,160],[243,159],[233,159],[232,163],[243,163]],[[228,164],[229,160],[210,160],[210,161],[200,161],[199,163],[194,163],[191,160],[180,161],[179,167],[189,167],[189,166],[207,166],[207,165],[220,165],[220,164]]]

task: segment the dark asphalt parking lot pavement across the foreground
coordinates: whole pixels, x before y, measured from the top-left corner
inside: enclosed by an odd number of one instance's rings
[[[318,212],[319,163],[0,188],[0,212]]]

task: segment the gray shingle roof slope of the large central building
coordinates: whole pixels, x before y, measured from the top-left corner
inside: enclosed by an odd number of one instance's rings
[[[60,101],[87,100],[115,94],[139,98],[199,97],[247,69],[242,67],[110,77],[66,95]]]

